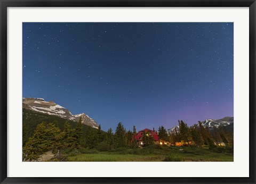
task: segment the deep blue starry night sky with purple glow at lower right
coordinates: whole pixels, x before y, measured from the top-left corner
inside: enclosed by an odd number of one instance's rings
[[[234,116],[233,23],[22,24],[22,95],[102,130]]]

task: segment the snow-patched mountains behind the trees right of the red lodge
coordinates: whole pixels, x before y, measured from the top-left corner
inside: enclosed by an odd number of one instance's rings
[[[214,127],[215,128],[218,128],[219,126],[229,126],[230,124],[234,123],[234,117],[225,117],[225,118],[222,118],[222,119],[219,119],[219,120],[212,120],[212,119],[207,119],[207,120],[204,120],[201,122],[202,123],[202,126],[203,127],[209,127],[209,129],[213,129]],[[199,123],[195,124],[198,128],[199,128]],[[179,126],[175,126],[171,129],[168,129],[168,133],[174,133],[175,132],[175,128],[177,130],[177,132],[179,132],[180,130],[180,127]]]

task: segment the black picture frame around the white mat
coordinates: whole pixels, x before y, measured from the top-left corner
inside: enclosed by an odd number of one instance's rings
[[[1,183],[255,183],[255,0],[0,0],[1,6]],[[11,178],[7,177],[7,7],[249,7],[250,11],[250,177],[248,178]],[[243,168],[241,168],[242,170]]]

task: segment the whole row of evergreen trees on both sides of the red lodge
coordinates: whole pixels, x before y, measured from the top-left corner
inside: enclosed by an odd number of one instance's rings
[[[58,122],[52,123],[42,122],[38,124],[31,137],[26,137],[27,128],[23,127],[23,161],[37,161],[41,155],[48,151],[52,151],[57,157],[64,153],[71,152],[79,148],[97,148],[101,151],[117,149],[121,147],[138,148],[135,135],[137,134],[135,126],[133,131],[126,131],[123,124],[117,124],[115,132],[111,128],[107,132],[101,130],[101,126],[97,130],[84,129],[81,119],[76,123],[76,127],[72,128],[70,123],[66,121],[61,130]],[[225,127],[214,128],[210,132],[208,127],[203,127],[199,122],[199,128],[196,126],[188,127],[183,121],[179,121],[180,130],[167,133],[166,129],[161,126],[158,128],[159,141],[162,143],[169,141],[170,143],[181,142],[193,143],[196,146],[207,145],[214,147],[215,144],[225,143],[233,145],[233,135],[228,132]],[[143,133],[143,146],[154,144],[154,139],[147,133]],[[215,144],[214,144],[215,143]]]

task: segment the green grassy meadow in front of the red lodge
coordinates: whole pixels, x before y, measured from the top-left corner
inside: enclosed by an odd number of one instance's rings
[[[83,150],[81,154],[67,155],[69,162],[233,162],[233,153],[217,153],[206,148],[138,148],[108,152]]]

